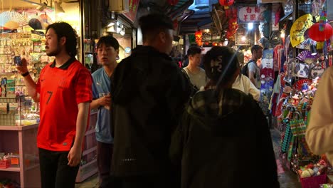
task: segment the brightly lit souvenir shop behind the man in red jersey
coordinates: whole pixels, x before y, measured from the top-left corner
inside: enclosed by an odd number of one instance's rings
[[[39,105],[27,96],[16,71],[21,58],[28,61],[36,80],[53,58],[45,53],[46,27],[56,21],[70,23],[78,34],[78,58],[91,52],[88,23],[89,1],[0,0],[0,187],[40,187],[36,135]],[[90,117],[93,125],[95,115]],[[85,137],[85,150],[77,182],[97,172],[95,129]]]

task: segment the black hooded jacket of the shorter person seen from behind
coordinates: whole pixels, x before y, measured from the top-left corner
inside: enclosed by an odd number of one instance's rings
[[[280,187],[268,122],[240,90],[199,91],[171,141],[182,188]],[[267,184],[263,184],[263,179]]]

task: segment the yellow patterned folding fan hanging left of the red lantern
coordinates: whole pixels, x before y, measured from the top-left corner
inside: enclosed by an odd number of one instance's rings
[[[292,23],[292,27],[290,28],[290,43],[292,44],[292,47],[297,46],[305,40],[304,34],[312,24],[311,14],[300,16],[300,18]]]

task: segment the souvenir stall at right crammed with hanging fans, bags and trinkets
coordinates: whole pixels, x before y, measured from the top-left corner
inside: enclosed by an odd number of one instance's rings
[[[281,19],[287,18],[280,30],[285,37],[281,35],[282,43],[273,50],[279,71],[269,110],[281,134],[282,165],[298,174],[302,187],[319,187],[332,183],[327,178],[332,164],[324,155],[312,154],[305,131],[320,78],[332,66],[332,20],[327,19],[326,1],[285,6],[294,11],[297,8],[298,15]]]

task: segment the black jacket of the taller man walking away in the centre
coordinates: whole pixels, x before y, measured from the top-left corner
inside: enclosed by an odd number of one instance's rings
[[[116,177],[170,171],[169,145],[189,98],[180,68],[152,46],[138,46],[112,74]]]

